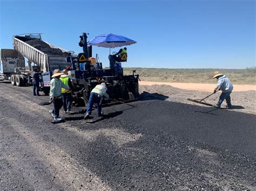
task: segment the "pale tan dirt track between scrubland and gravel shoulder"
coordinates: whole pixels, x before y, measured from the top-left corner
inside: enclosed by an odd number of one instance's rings
[[[175,88],[180,89],[186,89],[186,90],[198,90],[198,91],[213,91],[213,89],[216,87],[216,84],[209,84],[209,83],[171,83],[171,82],[145,82],[140,81],[140,85],[147,85],[152,86],[154,84],[157,85],[168,85]],[[255,85],[237,85],[234,84],[234,90],[233,91],[250,91],[250,90],[256,90]]]

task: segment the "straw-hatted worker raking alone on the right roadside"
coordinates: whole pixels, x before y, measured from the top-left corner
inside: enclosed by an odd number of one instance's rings
[[[227,108],[231,108],[231,97],[230,94],[233,90],[233,85],[231,81],[224,74],[219,73],[218,71],[213,73],[213,79],[216,78],[218,80],[217,86],[214,88],[213,93],[215,94],[217,90],[221,90],[222,93],[219,97],[219,101],[216,104],[218,108],[220,108],[221,103],[226,100]]]

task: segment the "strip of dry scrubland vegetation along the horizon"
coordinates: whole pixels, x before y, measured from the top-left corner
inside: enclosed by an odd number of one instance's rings
[[[124,68],[124,74],[136,69],[140,80],[151,82],[215,83],[214,71],[228,76],[234,84],[256,84],[256,67],[246,69],[165,69],[165,68]]]

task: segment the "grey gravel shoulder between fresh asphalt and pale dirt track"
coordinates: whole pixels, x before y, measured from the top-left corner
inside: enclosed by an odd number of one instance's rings
[[[145,91],[145,92],[144,92]],[[201,107],[208,107],[203,104],[194,103],[188,101],[187,98],[191,99],[200,99],[204,98],[207,95],[210,95],[211,92],[208,91],[197,91],[197,90],[185,90],[174,88],[168,85],[152,85],[152,86],[139,86],[139,93],[143,99],[150,97],[159,97],[165,101],[186,103],[192,105],[200,105]],[[216,104],[219,100],[220,93],[216,93],[208,97],[205,101],[207,103]],[[234,91],[231,94],[231,103],[234,105],[232,111],[245,112],[247,114],[256,114],[256,91]],[[223,102],[222,107],[226,106],[226,102]],[[208,107],[209,108],[209,107]]]

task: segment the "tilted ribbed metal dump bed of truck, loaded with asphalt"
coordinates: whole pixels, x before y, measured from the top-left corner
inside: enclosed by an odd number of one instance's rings
[[[62,70],[68,65],[66,58],[70,55],[69,52],[51,45],[41,38],[14,36],[14,49],[41,67],[43,72],[49,72],[56,68]]]

